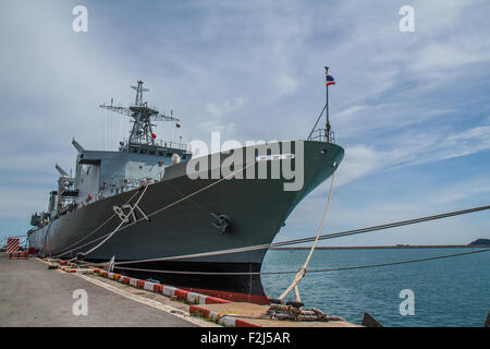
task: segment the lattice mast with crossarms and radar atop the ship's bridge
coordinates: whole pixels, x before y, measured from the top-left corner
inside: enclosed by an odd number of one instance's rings
[[[164,113],[159,112],[154,107],[148,107],[148,103],[143,101],[143,93],[148,92],[148,88],[143,87],[143,81],[137,81],[137,86],[131,86],[131,88],[136,91],[136,98],[134,101],[134,106],[130,106],[130,108],[124,107],[114,107],[112,105],[101,105],[100,108],[108,109],[111,111],[115,111],[128,117],[132,117],[133,120],[133,129],[131,130],[130,141],[122,149],[128,149],[130,144],[146,144],[146,145],[155,145],[155,134],[152,133],[151,127],[155,124],[151,123],[151,120],[158,121],[180,121],[177,118],[173,116],[167,116]]]

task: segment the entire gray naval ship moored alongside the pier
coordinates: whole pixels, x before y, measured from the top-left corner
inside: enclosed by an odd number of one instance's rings
[[[128,140],[119,151],[89,151],[73,139],[75,176],[56,165],[58,189],[49,193],[48,209],[32,216],[29,248],[62,260],[111,261],[115,273],[209,296],[268,303],[259,274],[267,249],[213,252],[272,242],[293,208],[342,161],[329,122],[314,127],[305,141],[193,157],[187,145],[156,141],[154,121],[180,128],[180,119],[144,103],[149,89],[142,81],[131,87],[134,106],[100,106],[131,118]],[[297,185],[287,168],[302,174]]]

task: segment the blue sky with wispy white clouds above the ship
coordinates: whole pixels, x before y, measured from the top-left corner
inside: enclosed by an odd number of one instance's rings
[[[87,32],[72,13],[87,9]],[[414,9],[402,32],[400,9]],[[345,157],[323,233],[490,203],[488,1],[23,1],[0,3],[0,237],[47,208],[75,137],[115,149],[134,101],[181,119],[157,139],[306,139],[324,105]],[[315,236],[330,181],[275,241]],[[323,241],[324,245],[466,244],[490,238],[481,212]]]

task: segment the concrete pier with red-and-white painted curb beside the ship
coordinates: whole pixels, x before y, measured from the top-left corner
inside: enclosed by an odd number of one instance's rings
[[[54,268],[50,268],[54,267]],[[342,318],[291,322],[257,305],[62,261],[0,254],[0,327],[357,327]]]

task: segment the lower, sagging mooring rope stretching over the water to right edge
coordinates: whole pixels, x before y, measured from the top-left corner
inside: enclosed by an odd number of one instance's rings
[[[391,266],[391,265],[401,265],[401,264],[451,258],[451,257],[457,257],[457,256],[481,253],[481,252],[489,252],[489,251],[490,251],[490,249],[481,249],[481,250],[476,250],[476,251],[443,254],[443,255],[430,256],[430,257],[417,258],[417,260],[396,261],[396,262],[367,264],[367,265],[354,265],[354,266],[344,266],[344,267],[336,267],[336,268],[308,269],[308,273],[328,273],[328,272],[341,272],[341,270],[352,270],[352,269],[366,269],[366,268],[373,268],[373,267],[382,267],[382,266]],[[115,268],[123,269],[123,270],[130,270],[130,272],[149,272],[149,273],[159,273],[159,274],[222,275],[222,276],[281,275],[281,274],[296,274],[297,273],[297,270],[230,272],[230,273],[226,273],[226,272],[181,272],[181,270],[156,270],[156,269],[145,269],[145,268],[128,268],[128,267],[121,267],[121,266],[117,266]]]

